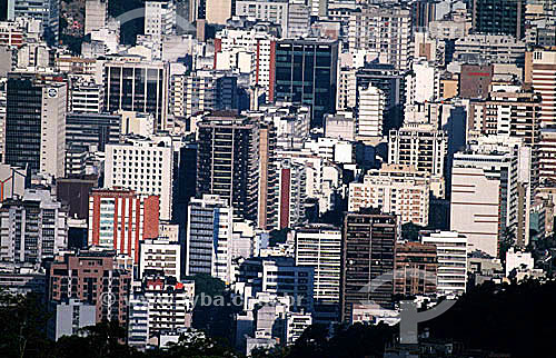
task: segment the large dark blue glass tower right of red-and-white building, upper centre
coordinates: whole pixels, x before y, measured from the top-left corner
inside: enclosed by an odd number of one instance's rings
[[[276,43],[275,100],[307,105],[311,127],[336,111],[338,41],[286,39]]]

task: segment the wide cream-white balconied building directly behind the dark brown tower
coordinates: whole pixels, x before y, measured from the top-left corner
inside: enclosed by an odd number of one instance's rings
[[[399,216],[400,222],[428,225],[430,175],[415,167],[383,165],[371,169],[364,182],[349,183],[348,211],[381,208]]]

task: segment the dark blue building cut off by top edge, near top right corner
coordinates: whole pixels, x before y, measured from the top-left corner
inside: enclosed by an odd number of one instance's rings
[[[473,30],[477,33],[525,36],[525,0],[473,0]]]

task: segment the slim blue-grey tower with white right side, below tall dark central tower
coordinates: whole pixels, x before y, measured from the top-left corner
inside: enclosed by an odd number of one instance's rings
[[[208,274],[230,282],[232,208],[219,196],[203,195],[191,199],[187,215],[186,275]]]

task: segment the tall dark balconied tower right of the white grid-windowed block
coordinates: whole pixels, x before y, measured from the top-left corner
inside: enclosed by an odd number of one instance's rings
[[[212,116],[197,123],[197,196],[218,195],[235,215],[256,221],[259,126],[248,118]]]

